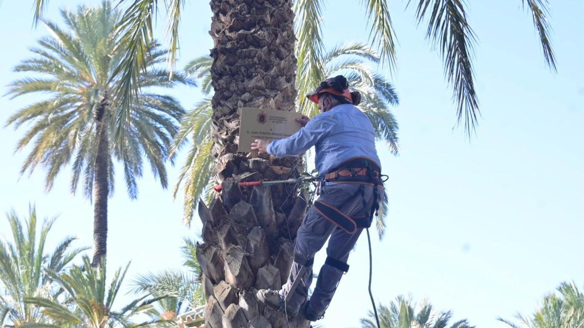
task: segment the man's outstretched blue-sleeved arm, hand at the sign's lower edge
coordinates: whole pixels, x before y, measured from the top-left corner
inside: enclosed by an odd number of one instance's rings
[[[330,126],[326,118],[325,120],[314,118],[290,137],[269,143],[258,139],[252,143],[252,149],[267,152],[276,157],[298,156],[326,137],[330,131]]]

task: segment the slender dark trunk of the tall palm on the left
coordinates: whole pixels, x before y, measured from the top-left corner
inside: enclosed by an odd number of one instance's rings
[[[107,251],[107,197],[109,196],[109,139],[103,118],[109,106],[105,95],[94,115],[98,153],[95,158],[95,181],[93,182],[93,266],[99,266]]]

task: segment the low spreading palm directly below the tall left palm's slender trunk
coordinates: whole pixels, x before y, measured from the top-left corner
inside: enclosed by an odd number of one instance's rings
[[[122,271],[118,269],[112,281],[106,280],[106,261],[99,266],[92,266],[89,257],[83,257],[83,266],[74,266],[67,273],[56,273],[47,270],[47,274],[58,287],[64,290],[59,299],[41,296],[27,297],[25,301],[37,306],[51,320],[50,324],[41,327],[75,327],[75,328],[105,328],[105,327],[144,327],[157,323],[149,320],[134,323],[134,316],[146,312],[151,304],[164,296],[149,298],[146,294],[131,301],[120,310],[113,309],[113,303],[119,294],[128,266]],[[39,327],[35,324],[23,324],[23,328]]]

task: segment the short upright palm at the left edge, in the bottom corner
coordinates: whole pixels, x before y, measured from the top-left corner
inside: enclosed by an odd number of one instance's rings
[[[25,303],[25,298],[54,298],[53,280],[44,270],[64,273],[71,260],[86,248],[72,249],[76,238],[68,236],[47,253],[45,245],[54,219],[45,219],[37,232],[34,207],[29,208],[25,219],[11,212],[8,222],[13,243],[0,239],[0,326],[40,323],[46,316],[36,306]]]

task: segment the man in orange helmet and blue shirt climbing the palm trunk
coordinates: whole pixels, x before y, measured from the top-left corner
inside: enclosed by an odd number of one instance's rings
[[[347,79],[339,75],[322,82],[307,97],[318,103],[321,114],[312,120],[301,118],[304,127],[286,139],[252,143],[252,149],[277,157],[297,156],[315,146],[315,165],[321,173],[321,195],[298,229],[288,281],[279,291],[260,289],[256,295],[288,316],[296,316],[302,308],[307,320],[316,321],[349,270],[349,252],[363,228],[371,225],[384,190],[373,124],[354,106],[360,94],[350,92]],[[307,301],[314,255],[329,236],[325,264]]]

